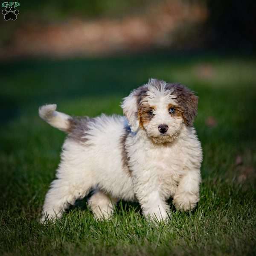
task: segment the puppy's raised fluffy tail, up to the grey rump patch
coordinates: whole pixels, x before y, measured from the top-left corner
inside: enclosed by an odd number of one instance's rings
[[[53,127],[69,133],[73,118],[67,114],[56,111],[56,108],[56,104],[41,106],[39,108],[39,116]]]

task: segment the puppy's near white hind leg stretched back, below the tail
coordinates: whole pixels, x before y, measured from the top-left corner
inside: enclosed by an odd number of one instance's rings
[[[76,199],[84,198],[88,194],[93,184],[89,179],[82,181],[59,177],[52,182],[44,201],[41,223],[61,218],[64,210],[74,204]]]

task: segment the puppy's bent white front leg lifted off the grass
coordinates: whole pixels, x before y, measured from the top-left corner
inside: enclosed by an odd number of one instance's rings
[[[191,171],[181,178],[172,203],[176,209],[188,211],[196,207],[199,201],[200,170]]]

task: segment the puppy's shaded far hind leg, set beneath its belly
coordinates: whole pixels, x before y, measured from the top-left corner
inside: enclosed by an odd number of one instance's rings
[[[108,219],[113,214],[117,198],[112,198],[100,190],[96,190],[88,201],[94,217],[98,220]]]

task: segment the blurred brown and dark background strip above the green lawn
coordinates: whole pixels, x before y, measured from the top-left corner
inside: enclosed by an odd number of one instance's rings
[[[0,19],[0,59],[105,56],[156,49],[251,53],[256,45],[252,0],[19,3],[17,20]]]

